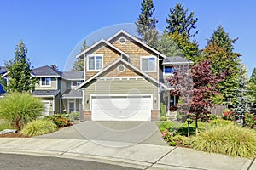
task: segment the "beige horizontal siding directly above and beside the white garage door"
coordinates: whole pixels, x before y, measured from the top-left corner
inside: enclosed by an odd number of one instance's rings
[[[153,94],[153,110],[158,108],[157,85],[142,78],[98,80],[85,87],[85,99],[90,99],[90,94]],[[84,105],[85,110],[90,110],[90,101]]]

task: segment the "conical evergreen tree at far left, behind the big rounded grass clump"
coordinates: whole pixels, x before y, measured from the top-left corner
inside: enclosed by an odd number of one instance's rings
[[[15,59],[6,62],[8,71],[8,84],[3,82],[6,92],[31,92],[38,82],[36,77],[32,77],[32,69],[29,59],[26,56],[27,48],[21,41],[15,49]]]

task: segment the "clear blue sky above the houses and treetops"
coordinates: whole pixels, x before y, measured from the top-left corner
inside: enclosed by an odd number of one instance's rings
[[[255,65],[256,1],[154,0],[158,29],[166,27],[169,8],[183,3],[198,17],[196,39],[204,48],[218,25],[230,37],[239,37],[235,51],[251,72]],[[34,67],[55,64],[65,67],[73,48],[91,32],[105,26],[133,23],[140,13],[141,0],[9,0],[0,1],[0,65],[14,57],[15,45],[23,39]]]

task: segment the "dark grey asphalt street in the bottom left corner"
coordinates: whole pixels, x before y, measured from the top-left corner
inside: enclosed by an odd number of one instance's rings
[[[1,170],[81,170],[81,169],[107,169],[131,170],[135,168],[120,167],[94,161],[80,161],[58,157],[26,156],[15,154],[0,154]]]

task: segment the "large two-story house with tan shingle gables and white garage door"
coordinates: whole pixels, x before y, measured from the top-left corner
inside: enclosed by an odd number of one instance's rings
[[[159,120],[163,94],[166,106],[171,101],[172,87],[163,77],[172,73],[172,65],[191,64],[168,58],[125,31],[96,42],[77,58],[84,59],[84,82],[75,89],[83,91],[85,120],[93,121]]]

